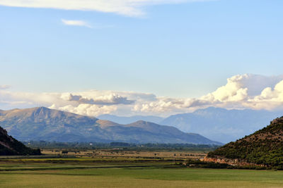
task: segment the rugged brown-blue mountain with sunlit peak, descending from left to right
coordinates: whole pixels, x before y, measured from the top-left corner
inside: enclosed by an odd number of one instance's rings
[[[45,107],[0,112],[0,125],[22,141],[221,144],[145,121],[121,125]]]

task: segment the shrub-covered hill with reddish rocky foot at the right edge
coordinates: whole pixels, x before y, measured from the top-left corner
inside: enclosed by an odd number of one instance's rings
[[[283,117],[273,120],[262,130],[209,152],[207,157],[240,159],[283,168]]]

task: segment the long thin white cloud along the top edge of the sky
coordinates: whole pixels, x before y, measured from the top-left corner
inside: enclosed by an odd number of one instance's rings
[[[2,6],[27,8],[57,8],[64,10],[100,11],[129,16],[144,15],[144,6],[158,4],[180,4],[185,2],[210,0],[1,0]]]

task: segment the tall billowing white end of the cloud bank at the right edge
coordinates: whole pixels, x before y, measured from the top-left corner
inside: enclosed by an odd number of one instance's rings
[[[202,96],[201,99],[221,102],[220,106],[254,109],[282,108],[283,75],[236,75],[227,79],[225,86],[215,92]]]

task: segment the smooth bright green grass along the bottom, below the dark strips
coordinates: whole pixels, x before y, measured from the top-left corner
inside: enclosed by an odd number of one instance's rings
[[[172,168],[1,171],[0,187],[283,187],[283,172]]]

